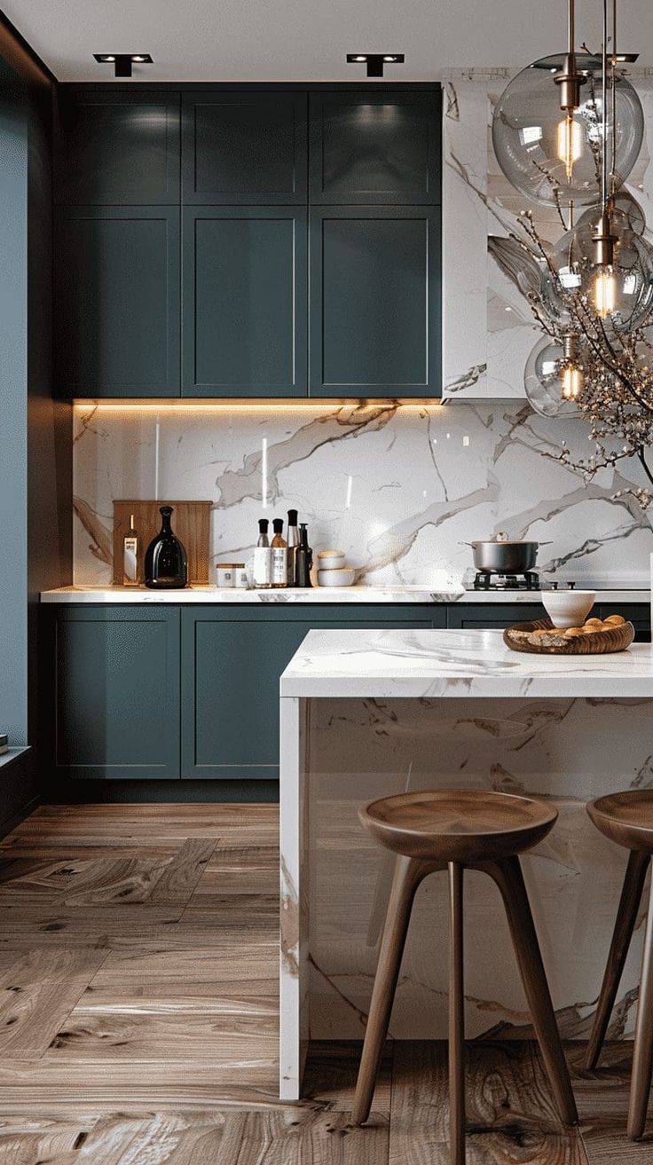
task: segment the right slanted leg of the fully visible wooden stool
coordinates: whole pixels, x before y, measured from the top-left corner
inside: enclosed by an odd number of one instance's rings
[[[524,991],[558,1110],[566,1124],[576,1124],[576,1102],[519,859],[505,857],[485,869],[502,892]]]

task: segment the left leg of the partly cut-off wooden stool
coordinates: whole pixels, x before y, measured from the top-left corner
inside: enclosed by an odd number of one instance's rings
[[[617,910],[615,933],[610,944],[610,953],[605,965],[605,974],[587,1048],[585,1067],[590,1072],[597,1065],[612,1008],[615,1007],[617,988],[624,970],[632,932],[637,922],[637,912],[641,902],[648,861],[648,854],[641,854],[636,849],[631,849],[622,897],[619,899],[619,909]]]

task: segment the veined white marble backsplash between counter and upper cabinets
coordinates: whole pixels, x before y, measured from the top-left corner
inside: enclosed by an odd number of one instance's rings
[[[650,518],[618,490],[637,464],[585,485],[553,457],[587,452],[587,426],[523,402],[185,408],[77,405],[74,582],[112,580],[119,497],[211,499],[212,564],[246,560],[257,518],[294,507],[315,549],[339,548],[365,584],[441,586],[466,543],[535,538],[540,571],[588,585],[648,585]],[[212,581],[214,581],[214,572]]]

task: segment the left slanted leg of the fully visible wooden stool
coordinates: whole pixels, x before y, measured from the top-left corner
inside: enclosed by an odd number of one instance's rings
[[[354,1124],[364,1124],[370,1115],[378,1061],[388,1036],[413,898],[425,873],[424,862],[403,855],[397,857],[356,1082],[352,1114]]]

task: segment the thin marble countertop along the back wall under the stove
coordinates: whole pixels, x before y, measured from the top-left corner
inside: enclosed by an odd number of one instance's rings
[[[155,603],[402,603],[402,602],[480,602],[538,603],[539,591],[463,591],[452,585],[435,589],[424,586],[349,586],[289,588],[279,591],[244,591],[239,587],[189,586],[178,591],[149,591],[144,586],[64,586],[43,591],[41,602],[155,602]],[[650,602],[651,592],[643,589],[605,589],[596,592],[597,602]]]

